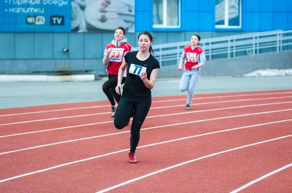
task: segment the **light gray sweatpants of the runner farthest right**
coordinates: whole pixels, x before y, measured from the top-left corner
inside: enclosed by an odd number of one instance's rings
[[[189,105],[192,102],[194,96],[195,86],[200,79],[201,70],[184,70],[180,83],[180,90],[182,92],[187,90],[186,104]]]

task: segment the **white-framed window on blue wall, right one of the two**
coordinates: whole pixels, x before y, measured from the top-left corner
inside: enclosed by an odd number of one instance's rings
[[[241,28],[241,0],[215,0],[216,28]]]

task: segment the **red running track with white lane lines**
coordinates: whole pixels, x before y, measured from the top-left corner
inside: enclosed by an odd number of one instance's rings
[[[79,116],[103,113],[107,107],[75,109],[103,106],[107,101],[0,110],[1,115],[26,113],[0,116],[0,124],[14,123],[0,125],[0,190],[98,192],[111,187],[111,192],[234,191],[292,163],[290,92],[197,95],[194,103],[198,104],[192,105],[191,111],[184,110],[185,96],[153,98],[153,109],[141,130],[137,164],[130,164],[127,158],[130,127],[114,129],[110,114]],[[72,110],[40,112],[68,108]],[[78,117],[31,122],[64,116]],[[18,123],[22,121],[27,123]],[[78,126],[92,123],[96,124]],[[68,128],[56,129],[62,127]],[[258,142],[262,143],[255,144]],[[185,161],[191,162],[176,166]],[[288,167],[241,191],[291,192],[291,174]],[[126,184],[121,185],[123,182]]]

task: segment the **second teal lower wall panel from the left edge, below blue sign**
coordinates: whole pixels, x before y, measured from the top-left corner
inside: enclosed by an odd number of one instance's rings
[[[15,41],[16,59],[35,58],[34,33],[16,33],[15,39],[16,39]]]

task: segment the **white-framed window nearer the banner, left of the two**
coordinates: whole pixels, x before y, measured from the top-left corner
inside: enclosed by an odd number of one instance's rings
[[[153,28],[180,28],[181,0],[153,0]]]

